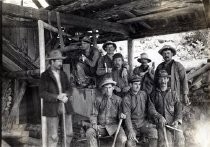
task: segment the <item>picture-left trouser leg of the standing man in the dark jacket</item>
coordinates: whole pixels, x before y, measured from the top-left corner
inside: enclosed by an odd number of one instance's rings
[[[58,117],[47,117],[47,146],[57,147],[58,122]]]

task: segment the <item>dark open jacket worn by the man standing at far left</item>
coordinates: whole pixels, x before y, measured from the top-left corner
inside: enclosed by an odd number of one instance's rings
[[[60,80],[62,92],[67,93],[69,89],[69,82],[66,73],[63,71],[60,71]],[[39,92],[40,97],[43,98],[43,115],[56,117],[58,115],[58,105],[61,101],[57,99],[59,90],[56,79],[50,68],[41,75]],[[70,100],[65,103],[65,108],[67,114],[72,113],[73,109]]]

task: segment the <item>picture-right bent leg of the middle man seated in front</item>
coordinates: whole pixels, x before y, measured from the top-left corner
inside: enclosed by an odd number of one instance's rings
[[[149,138],[149,147],[157,147],[158,133],[156,126],[150,123],[140,128],[140,133],[146,134]]]

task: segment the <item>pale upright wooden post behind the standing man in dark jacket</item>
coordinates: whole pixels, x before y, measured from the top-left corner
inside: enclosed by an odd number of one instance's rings
[[[40,75],[45,71],[45,40],[44,25],[38,20],[39,30],[39,57],[40,57]],[[41,118],[42,118],[42,147],[47,147],[47,118],[43,116],[43,99],[41,98]]]

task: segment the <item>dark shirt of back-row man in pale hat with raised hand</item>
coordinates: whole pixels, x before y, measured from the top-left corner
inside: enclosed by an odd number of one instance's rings
[[[150,94],[152,92],[153,86],[154,86],[154,74],[151,76],[150,74],[152,74],[152,73],[149,73],[148,68],[149,68],[149,66],[144,68],[141,65],[139,67],[134,68],[133,74],[141,76],[141,73],[146,72],[142,76],[141,90],[145,91],[147,94]]]

